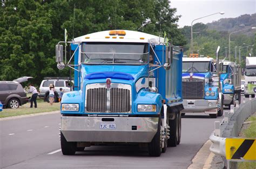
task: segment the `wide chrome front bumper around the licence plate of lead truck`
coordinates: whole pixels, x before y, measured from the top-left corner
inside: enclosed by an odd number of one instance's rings
[[[116,129],[100,129],[100,124],[116,124]],[[63,116],[60,130],[68,142],[149,143],[157,128],[158,117]]]

